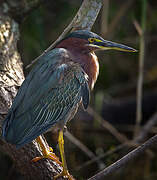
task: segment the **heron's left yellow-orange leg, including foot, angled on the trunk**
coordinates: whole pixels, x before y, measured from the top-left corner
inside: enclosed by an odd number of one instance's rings
[[[36,138],[36,142],[39,144],[43,156],[33,158],[32,159],[33,162],[37,162],[38,160],[43,159],[43,158],[48,158],[48,159],[52,159],[57,164],[62,165],[62,163],[59,161],[59,158],[55,155],[55,153],[53,153],[53,149],[51,147],[47,149],[41,136]]]

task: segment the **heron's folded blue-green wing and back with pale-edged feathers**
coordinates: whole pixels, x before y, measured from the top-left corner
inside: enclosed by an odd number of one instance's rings
[[[80,101],[88,106],[88,79],[81,66],[61,63],[61,55],[50,57],[28,75],[3,124],[2,135],[12,144],[24,145],[56,123],[66,123]]]

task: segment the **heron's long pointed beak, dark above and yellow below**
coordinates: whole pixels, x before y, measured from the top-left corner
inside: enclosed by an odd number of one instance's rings
[[[92,44],[90,44],[92,46]],[[113,50],[118,50],[118,51],[126,51],[126,52],[137,52],[136,49],[125,46],[123,44],[118,44],[115,42],[111,42],[111,41],[106,41],[106,40],[99,40],[93,43],[93,47],[97,47],[98,50],[109,50],[109,49],[113,49]]]

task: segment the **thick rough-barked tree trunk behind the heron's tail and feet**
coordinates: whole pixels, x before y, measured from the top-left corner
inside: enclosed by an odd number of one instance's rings
[[[17,93],[17,87],[24,80],[21,57],[17,50],[19,25],[8,16],[8,8],[6,4],[0,7],[0,128]],[[2,141],[0,148],[16,162],[16,168],[26,179],[52,179],[61,171],[61,167],[51,160],[31,162],[31,159],[41,155],[35,142],[16,149]]]

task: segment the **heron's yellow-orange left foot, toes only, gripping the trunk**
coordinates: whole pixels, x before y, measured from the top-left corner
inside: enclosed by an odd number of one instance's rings
[[[40,159],[44,159],[44,158],[52,159],[57,164],[62,165],[62,163],[59,161],[59,158],[55,155],[55,153],[53,153],[53,149],[51,147],[49,147],[49,151],[48,150],[45,151],[43,156],[33,158],[32,162],[37,162]]]

